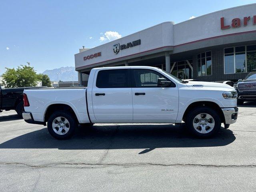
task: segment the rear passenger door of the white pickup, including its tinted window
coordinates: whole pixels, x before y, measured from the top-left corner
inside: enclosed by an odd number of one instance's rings
[[[96,120],[132,120],[130,69],[99,70],[95,75],[92,105]]]

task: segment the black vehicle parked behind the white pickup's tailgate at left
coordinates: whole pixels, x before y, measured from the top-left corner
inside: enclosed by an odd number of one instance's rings
[[[22,117],[22,112],[24,111],[23,91],[25,88],[2,89],[0,86],[0,112],[2,110],[15,110]]]

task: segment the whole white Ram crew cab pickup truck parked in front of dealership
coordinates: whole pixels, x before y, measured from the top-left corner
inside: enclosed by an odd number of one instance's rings
[[[182,81],[155,67],[94,68],[88,87],[24,90],[23,118],[48,126],[57,139],[70,138],[78,124],[180,124],[209,137],[236,122],[236,90],[214,82]]]

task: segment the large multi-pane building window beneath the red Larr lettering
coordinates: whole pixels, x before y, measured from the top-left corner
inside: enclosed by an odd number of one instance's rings
[[[256,45],[224,48],[224,74],[252,72],[256,68]]]

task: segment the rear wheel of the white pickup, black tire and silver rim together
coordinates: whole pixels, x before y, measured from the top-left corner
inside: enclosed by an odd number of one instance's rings
[[[63,140],[72,137],[76,130],[76,120],[70,112],[56,111],[47,122],[47,128],[51,136]]]

